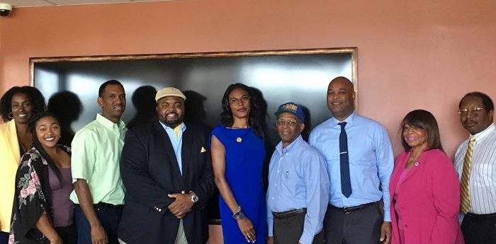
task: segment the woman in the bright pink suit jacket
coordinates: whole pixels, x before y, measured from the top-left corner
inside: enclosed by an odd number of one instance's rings
[[[389,188],[392,244],[460,244],[460,183],[444,153],[434,115],[413,110],[401,122],[405,151]]]

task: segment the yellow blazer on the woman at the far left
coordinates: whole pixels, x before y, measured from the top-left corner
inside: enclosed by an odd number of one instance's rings
[[[0,231],[9,232],[16,172],[21,161],[16,123],[0,124]]]

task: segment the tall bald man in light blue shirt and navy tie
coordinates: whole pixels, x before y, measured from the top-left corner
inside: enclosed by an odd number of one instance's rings
[[[349,79],[333,79],[327,88],[327,108],[332,118],[310,133],[310,145],[324,156],[331,180],[324,219],[325,241],[390,243],[389,180],[393,150],[381,124],[354,112],[355,96]],[[340,150],[342,132],[346,151]],[[347,155],[346,164],[340,160],[342,154]]]

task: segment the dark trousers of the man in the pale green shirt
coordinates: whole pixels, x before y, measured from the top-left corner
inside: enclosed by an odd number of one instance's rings
[[[118,244],[117,227],[120,216],[123,215],[123,205],[113,206],[111,204],[95,204],[96,216],[105,230],[109,244]],[[84,216],[79,204],[74,207],[74,223],[77,229],[77,243],[91,244],[91,226]]]

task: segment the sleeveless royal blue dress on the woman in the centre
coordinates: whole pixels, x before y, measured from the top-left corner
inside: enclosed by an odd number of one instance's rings
[[[212,134],[225,147],[225,179],[237,204],[253,223],[257,234],[255,243],[265,243],[267,221],[261,179],[265,158],[264,141],[254,134],[251,127],[228,129],[220,124],[213,129]],[[219,197],[219,208],[224,243],[247,243],[222,196]]]

